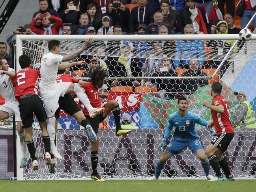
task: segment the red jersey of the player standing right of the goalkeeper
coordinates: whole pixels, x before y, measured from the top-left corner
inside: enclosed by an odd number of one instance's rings
[[[234,132],[234,129],[229,119],[228,104],[226,103],[225,99],[220,95],[216,95],[213,98],[211,104],[214,106],[218,106],[221,104],[224,107],[224,113],[217,113],[211,110],[211,116],[213,117],[213,123],[217,134],[226,134]]]

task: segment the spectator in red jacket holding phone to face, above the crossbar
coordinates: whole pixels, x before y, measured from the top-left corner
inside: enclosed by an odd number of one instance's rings
[[[38,18],[41,18],[42,21],[41,28],[36,27],[36,20]],[[51,23],[51,21],[53,23]],[[62,19],[60,19],[59,17],[55,17],[54,15],[50,15],[50,13],[48,12],[46,12],[45,14],[37,14],[30,23],[30,29],[37,35],[57,35],[61,26]]]

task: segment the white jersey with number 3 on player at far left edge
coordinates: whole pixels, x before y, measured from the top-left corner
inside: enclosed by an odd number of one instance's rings
[[[8,71],[15,72],[14,69],[10,68]],[[13,78],[6,74],[0,74],[0,94],[4,97],[6,102],[16,102],[14,91],[13,91]],[[18,78],[19,80],[19,78]]]

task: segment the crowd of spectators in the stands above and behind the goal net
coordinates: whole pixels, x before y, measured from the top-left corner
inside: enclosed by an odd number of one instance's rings
[[[227,13],[223,15],[223,20],[215,18],[209,21],[207,15],[211,14],[215,1],[222,14],[226,2]],[[125,4],[134,3],[138,6],[131,10],[125,7]],[[245,1],[242,27],[256,11],[254,3],[255,0]],[[24,26],[26,28],[19,26],[9,33],[7,44],[11,47],[16,34],[238,34],[240,29],[234,24],[234,4],[235,0],[39,0],[39,10],[34,13],[30,24]],[[256,27],[256,19],[253,24]],[[202,69],[217,68],[221,62],[218,56],[225,55],[233,43],[200,40],[102,42],[97,54],[81,55],[80,58],[88,63],[83,66],[86,71],[82,77],[88,77],[88,72],[100,65],[108,69],[111,77],[129,77],[129,80],[109,81],[111,86],[156,84],[157,97],[174,99],[177,93],[189,97],[198,87],[207,85],[208,80],[138,80],[136,77],[178,76],[175,69],[188,69],[181,76],[206,76]],[[113,45],[118,46],[118,50],[113,49]],[[208,62],[205,47],[211,47],[212,60]],[[6,51],[6,43],[0,42],[0,56],[13,67],[11,56]],[[113,52],[116,52],[115,56],[109,56]],[[170,55],[177,59],[171,60]],[[229,65],[230,61],[224,62],[220,69],[222,74]]]

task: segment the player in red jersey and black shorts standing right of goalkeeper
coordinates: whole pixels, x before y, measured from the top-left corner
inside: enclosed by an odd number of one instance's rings
[[[215,126],[217,132],[217,136],[213,138],[206,149],[206,154],[216,173],[216,176],[209,181],[234,181],[228,162],[223,156],[234,137],[234,129],[229,119],[228,104],[220,95],[221,91],[222,85],[220,82],[214,82],[211,86],[212,103],[209,104],[207,101],[203,103],[204,106],[211,109],[211,116],[213,117],[213,121],[209,123],[208,128]],[[224,171],[225,177],[220,172],[220,167]]]

